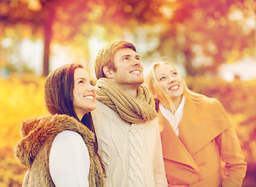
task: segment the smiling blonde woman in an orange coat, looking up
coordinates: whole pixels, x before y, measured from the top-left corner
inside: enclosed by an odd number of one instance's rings
[[[145,83],[158,103],[169,186],[241,186],[247,164],[222,104],[189,90],[169,62],[151,65]]]

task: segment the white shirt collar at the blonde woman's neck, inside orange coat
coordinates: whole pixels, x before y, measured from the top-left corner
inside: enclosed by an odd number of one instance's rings
[[[182,97],[179,108],[176,110],[175,114],[172,115],[172,112],[165,108],[161,103],[159,104],[159,110],[162,115],[169,121],[169,124],[172,126],[172,129],[179,136],[179,124],[183,116],[184,105],[185,105],[186,96]]]

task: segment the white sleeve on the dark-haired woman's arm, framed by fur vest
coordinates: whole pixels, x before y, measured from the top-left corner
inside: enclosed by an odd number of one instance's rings
[[[49,169],[57,187],[87,187],[90,158],[82,137],[73,131],[60,132],[52,142]]]

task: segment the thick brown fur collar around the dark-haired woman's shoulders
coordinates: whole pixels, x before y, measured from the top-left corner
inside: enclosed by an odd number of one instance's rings
[[[22,164],[30,167],[44,141],[51,136],[57,136],[63,130],[72,130],[79,133],[87,144],[92,145],[95,141],[93,132],[68,115],[29,118],[23,121],[20,127],[22,139],[14,147],[16,157],[20,159]]]

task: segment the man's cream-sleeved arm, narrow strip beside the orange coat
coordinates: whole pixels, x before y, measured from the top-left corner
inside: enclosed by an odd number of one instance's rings
[[[159,132],[158,120],[155,120],[155,129],[157,134],[154,153],[155,186],[168,186],[165,174],[165,164],[162,156],[162,143]]]

